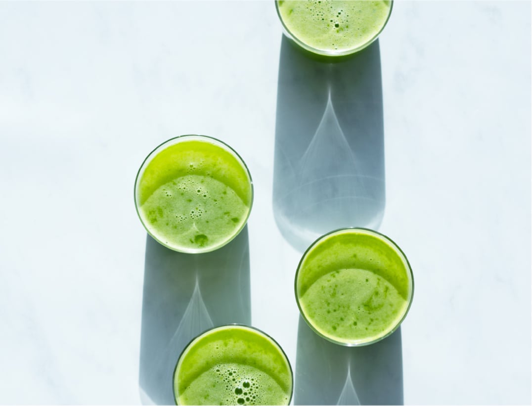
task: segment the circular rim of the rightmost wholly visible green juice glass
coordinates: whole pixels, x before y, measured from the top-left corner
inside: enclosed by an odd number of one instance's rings
[[[405,268],[407,268],[405,270],[407,271],[407,274],[410,275],[411,288],[410,288],[410,295],[408,297],[408,305],[406,306],[406,309],[405,309],[405,311],[403,313],[403,316],[401,317],[401,319],[399,319],[396,322],[396,324],[386,334],[384,334],[383,336],[379,336],[379,337],[377,337],[377,338],[375,338],[375,339],[373,339],[371,341],[367,341],[367,342],[346,343],[346,342],[343,342],[343,341],[338,341],[338,340],[336,340],[336,339],[334,339],[332,337],[329,337],[329,336],[321,333],[316,327],[314,327],[312,322],[306,317],[306,314],[304,313],[303,309],[301,308],[299,295],[297,294],[297,277],[299,275],[299,272],[301,270],[301,266],[302,266],[303,261],[305,260],[305,258],[307,256],[307,254],[309,253],[309,251],[312,250],[312,248],[314,248],[315,245],[317,245],[320,241],[322,241],[322,239],[325,239],[325,238],[327,238],[329,236],[332,236],[334,234],[340,234],[340,233],[344,233],[346,231],[356,231],[356,230],[365,231],[367,234],[370,234],[370,235],[373,234],[376,237],[378,237],[380,239],[383,239],[385,242],[389,242],[392,245],[392,248],[394,248],[400,254],[400,256],[402,256],[401,259],[404,260],[404,264],[406,265]],[[312,244],[309,245],[309,247],[306,248],[305,252],[301,256],[300,262],[297,264],[297,270],[296,270],[296,274],[295,274],[295,278],[294,278],[294,293],[295,293],[295,297],[296,297],[297,308],[300,311],[301,317],[303,317],[303,320],[305,320],[306,324],[313,330],[314,333],[318,334],[320,337],[325,338],[327,341],[330,341],[331,343],[334,343],[334,344],[343,345],[343,346],[346,346],[346,347],[362,347],[362,346],[365,346],[365,345],[375,344],[375,343],[385,339],[386,337],[389,337],[390,335],[392,335],[401,326],[403,320],[406,318],[406,314],[408,314],[408,312],[410,310],[410,306],[412,305],[412,300],[413,300],[413,297],[414,297],[414,274],[412,272],[412,267],[410,266],[410,262],[408,261],[408,258],[406,258],[405,253],[403,252],[403,250],[401,250],[401,247],[398,246],[395,243],[395,241],[393,241],[392,238],[388,237],[387,235],[384,235],[383,233],[379,233],[379,231],[372,230],[371,228],[343,227],[343,228],[337,228],[335,230],[329,231],[328,233],[319,236],[317,239],[314,240],[314,242],[312,242]]]

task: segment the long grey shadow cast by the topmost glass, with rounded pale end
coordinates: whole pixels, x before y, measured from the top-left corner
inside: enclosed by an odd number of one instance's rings
[[[378,40],[350,59],[327,63],[283,36],[273,167],[281,234],[304,251],[337,228],[378,229],[384,206]]]

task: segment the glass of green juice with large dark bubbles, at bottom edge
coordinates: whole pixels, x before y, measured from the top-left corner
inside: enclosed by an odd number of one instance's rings
[[[257,329],[229,325],[195,338],[173,375],[176,404],[284,404],[292,368],[281,347]]]

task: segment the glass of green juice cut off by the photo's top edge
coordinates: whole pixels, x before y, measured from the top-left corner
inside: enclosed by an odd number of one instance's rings
[[[320,55],[347,55],[368,46],[392,12],[388,0],[278,0],[276,4],[289,36]]]

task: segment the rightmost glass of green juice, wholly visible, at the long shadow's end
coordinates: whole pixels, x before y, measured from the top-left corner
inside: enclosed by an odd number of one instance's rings
[[[390,238],[366,228],[344,228],[317,239],[295,276],[297,305],[315,333],[362,346],[392,334],[412,303],[412,269]]]

